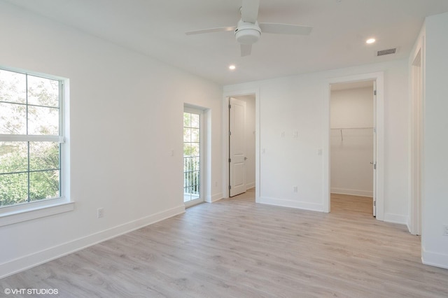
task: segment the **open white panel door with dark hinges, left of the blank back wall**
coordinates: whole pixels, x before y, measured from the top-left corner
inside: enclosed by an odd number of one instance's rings
[[[229,100],[229,197],[246,192],[246,102]]]

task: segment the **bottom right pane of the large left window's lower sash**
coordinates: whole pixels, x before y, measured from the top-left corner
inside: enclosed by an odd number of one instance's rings
[[[49,199],[59,197],[59,171],[29,173],[29,199]]]

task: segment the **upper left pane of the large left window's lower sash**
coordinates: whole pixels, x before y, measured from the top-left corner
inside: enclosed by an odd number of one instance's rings
[[[28,171],[27,142],[0,142],[0,173]]]

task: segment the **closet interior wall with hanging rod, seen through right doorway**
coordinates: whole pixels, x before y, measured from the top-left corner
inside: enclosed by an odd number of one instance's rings
[[[372,90],[373,87],[363,87],[331,92],[332,193],[373,197],[373,168],[370,164],[373,161]]]

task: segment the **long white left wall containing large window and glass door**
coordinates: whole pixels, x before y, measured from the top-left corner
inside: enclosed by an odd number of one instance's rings
[[[70,79],[75,201],[72,212],[0,227],[0,278],[183,212],[184,102],[210,109],[206,192],[223,196],[220,86],[3,1],[0,27],[1,66]]]

